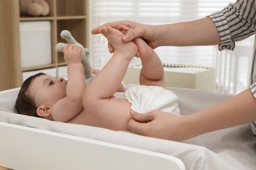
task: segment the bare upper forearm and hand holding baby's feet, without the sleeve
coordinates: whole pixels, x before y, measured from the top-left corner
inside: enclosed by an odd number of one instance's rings
[[[196,46],[220,44],[219,34],[213,21],[206,17],[192,22],[181,22],[166,25],[147,25],[131,21],[111,22],[92,30],[98,34],[101,27],[110,25],[119,27],[126,25],[131,27],[123,35],[123,41],[132,41],[136,37],[142,37],[152,48],[158,46]]]

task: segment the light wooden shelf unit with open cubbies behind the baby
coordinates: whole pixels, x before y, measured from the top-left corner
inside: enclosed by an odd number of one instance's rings
[[[89,48],[89,0],[46,0],[50,14],[45,17],[20,16],[18,0],[0,1],[0,90],[16,88],[22,84],[22,72],[38,69],[56,69],[66,65],[63,54],[55,51],[58,42],[66,42],[60,32],[69,30],[73,37]],[[51,63],[32,67],[21,66],[20,22],[51,22]]]

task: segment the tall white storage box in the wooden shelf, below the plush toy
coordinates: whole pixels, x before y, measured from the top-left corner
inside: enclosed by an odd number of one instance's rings
[[[51,22],[20,22],[21,66],[51,63]]]

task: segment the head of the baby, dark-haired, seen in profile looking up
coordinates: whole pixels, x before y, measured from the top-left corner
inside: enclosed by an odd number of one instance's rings
[[[64,78],[38,73],[27,78],[20,88],[15,109],[19,114],[51,119],[51,109],[66,97]]]

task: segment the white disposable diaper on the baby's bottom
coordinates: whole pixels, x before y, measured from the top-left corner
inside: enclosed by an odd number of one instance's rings
[[[131,103],[131,109],[135,112],[161,110],[180,114],[177,95],[159,86],[135,85],[128,87],[124,93],[116,93],[115,96],[127,99]]]

